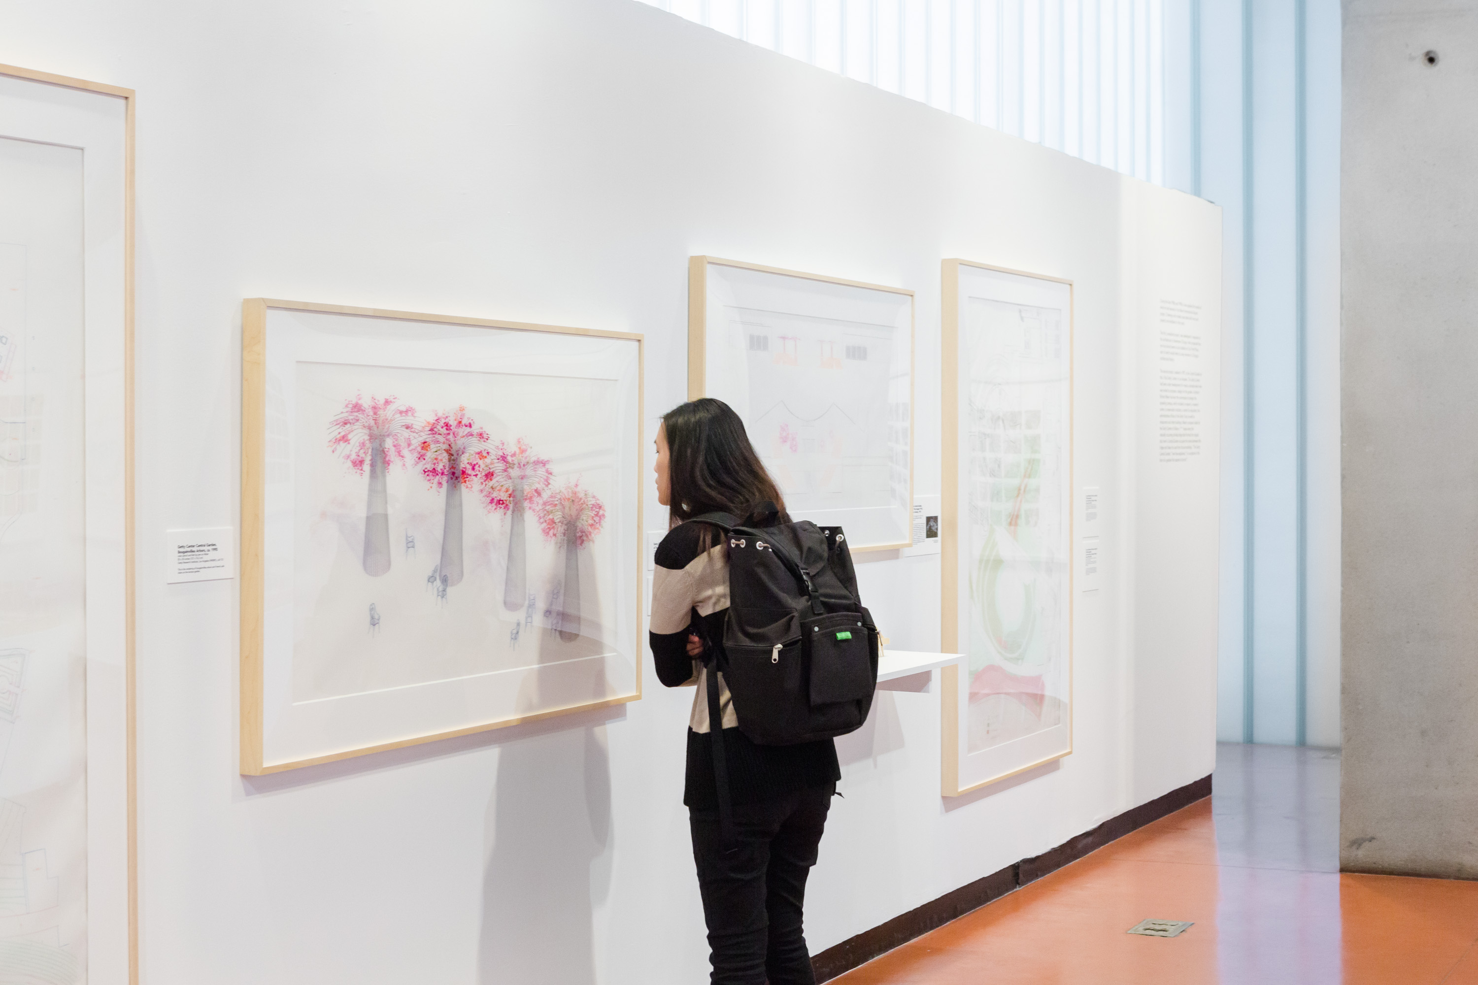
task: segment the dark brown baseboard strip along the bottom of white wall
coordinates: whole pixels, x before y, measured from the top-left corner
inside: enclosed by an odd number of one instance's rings
[[[840,975],[845,975],[854,967],[866,964],[879,954],[907,944],[913,938],[944,926],[950,920],[965,916],[971,910],[999,899],[1001,896],[1020,889],[1029,882],[1035,882],[1051,871],[1076,862],[1079,858],[1095,852],[1104,845],[1123,837],[1129,831],[1144,827],[1151,821],[1159,821],[1168,814],[1174,814],[1184,806],[1196,803],[1202,797],[1210,796],[1210,775],[1202,777],[1184,787],[1176,787],[1165,796],[1148,803],[1108,818],[1091,831],[1072,837],[1057,848],[1048,849],[1033,858],[1023,858],[1014,865],[1007,865],[1001,871],[984,879],[967,883],[953,892],[947,892],[939,899],[933,899],[922,907],[909,910],[893,917],[871,930],[863,930],[854,938],[847,938],[835,947],[829,947],[811,958],[816,969],[817,982],[829,982]]]

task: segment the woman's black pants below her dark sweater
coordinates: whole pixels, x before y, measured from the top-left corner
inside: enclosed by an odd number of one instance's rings
[[[735,805],[733,854],[718,811],[689,811],[712,985],[814,985],[801,907],[837,784]]]

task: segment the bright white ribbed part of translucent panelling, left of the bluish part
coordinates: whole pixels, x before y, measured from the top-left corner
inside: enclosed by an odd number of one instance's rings
[[[1012,136],[1165,180],[1165,0],[643,1]]]

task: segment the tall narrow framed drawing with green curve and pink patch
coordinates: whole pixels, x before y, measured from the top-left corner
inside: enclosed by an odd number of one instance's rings
[[[943,270],[943,787],[1073,750],[1073,285]]]

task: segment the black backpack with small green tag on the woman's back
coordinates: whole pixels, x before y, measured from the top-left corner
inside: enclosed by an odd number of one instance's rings
[[[841,527],[817,527],[810,520],[743,527],[726,512],[689,523],[717,527],[729,543],[723,647],[704,639],[704,666],[720,826],[732,842],[718,673],[729,685],[739,731],[755,744],[845,735],[862,728],[872,707],[878,628],[857,597]]]

